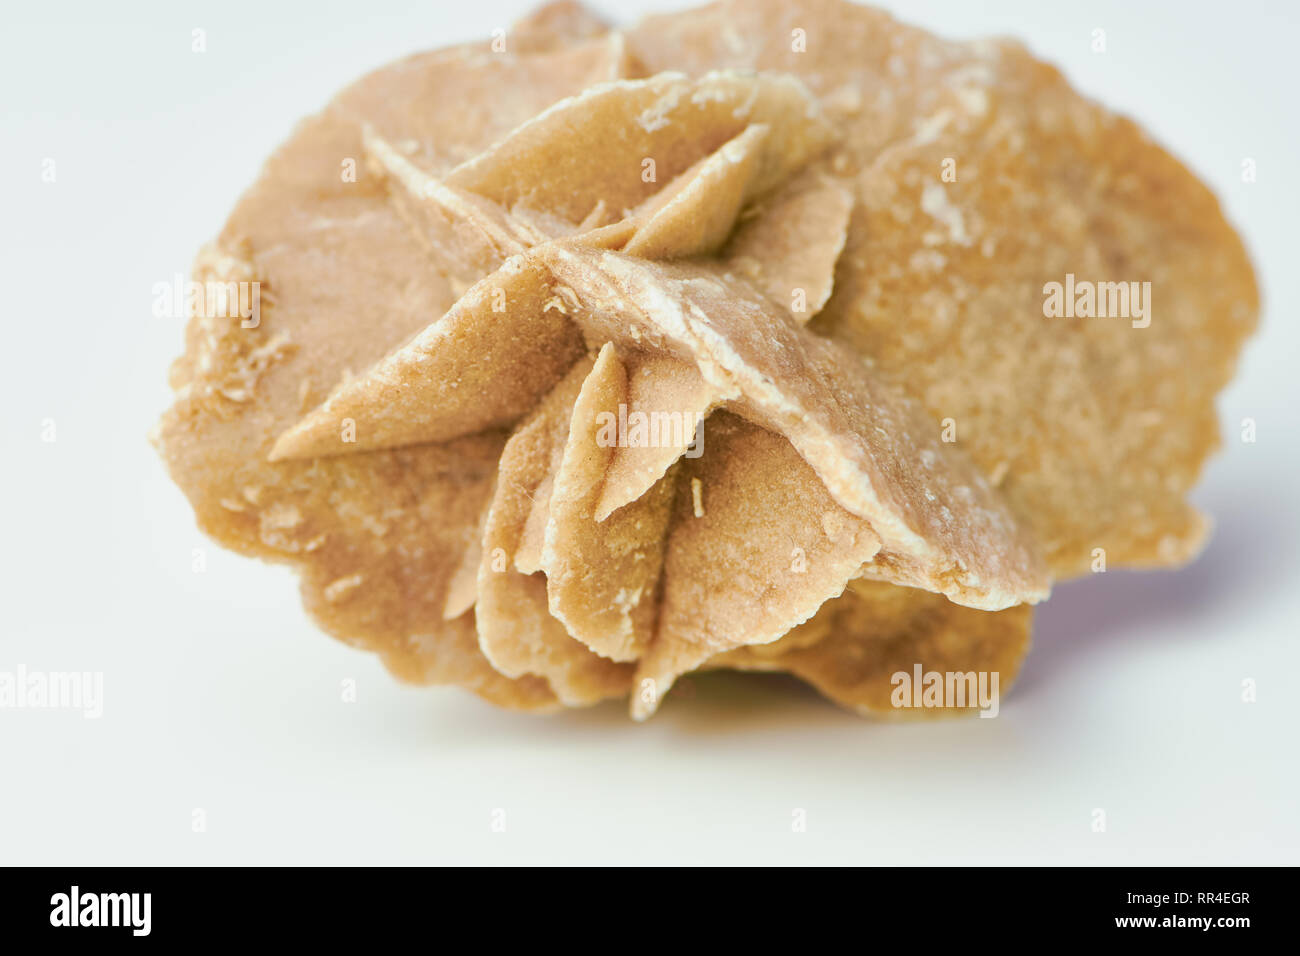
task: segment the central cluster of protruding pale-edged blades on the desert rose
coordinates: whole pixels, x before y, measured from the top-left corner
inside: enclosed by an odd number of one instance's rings
[[[800,82],[741,73],[597,86],[443,179],[368,131],[417,228],[447,219],[503,261],[272,458],[515,428],[446,615],[474,609],[491,665],[567,705],[634,685],[644,717],[680,674],[781,637],[855,578],[985,610],[1044,597],[984,477],[805,328],[852,194],[800,172],[833,142]],[[801,228],[803,255],[763,242]]]

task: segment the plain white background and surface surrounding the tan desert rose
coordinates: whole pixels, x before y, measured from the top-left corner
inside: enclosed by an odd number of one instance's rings
[[[630,21],[682,4],[595,5]],[[696,679],[646,726],[616,704],[536,718],[402,687],[311,626],[286,570],[195,531],[146,442],[181,351],[151,290],[296,118],[528,4],[16,5],[0,670],[103,671],[105,700],[99,721],[0,710],[0,862],[1300,861],[1295,7],[885,5],[952,36],[1018,35],[1147,124],[1245,235],[1264,329],[1219,405],[1225,449],[1196,496],[1218,531],[1197,563],[1060,587],[993,721],[866,723],[783,678]]]

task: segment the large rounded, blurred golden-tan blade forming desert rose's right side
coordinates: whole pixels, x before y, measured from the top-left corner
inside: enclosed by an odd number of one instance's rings
[[[806,36],[798,48],[792,36]],[[841,0],[734,0],[629,33],[650,72],[800,77],[855,194],[815,328],[930,410],[1060,576],[1170,566],[1258,295],[1218,203],[1130,120],[1010,40],[953,43]],[[1147,319],[1048,319],[1044,285],[1149,282]],[[1131,304],[1130,304],[1131,311]]]

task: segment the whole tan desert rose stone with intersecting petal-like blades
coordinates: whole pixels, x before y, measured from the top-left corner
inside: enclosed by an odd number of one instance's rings
[[[637,718],[698,667],[1005,691],[1053,579],[1195,555],[1257,312],[1130,121],[841,0],[384,68],[194,273],[260,290],[199,306],[157,432],[203,529],[403,679]]]

